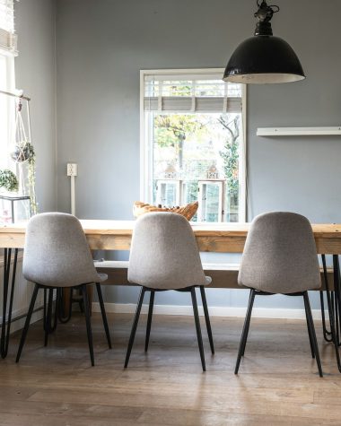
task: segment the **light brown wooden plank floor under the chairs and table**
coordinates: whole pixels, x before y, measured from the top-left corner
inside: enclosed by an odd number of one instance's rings
[[[213,318],[216,354],[205,337],[202,372],[192,317],[153,318],[144,353],[142,317],[128,369],[123,362],[131,315],[110,315],[109,351],[93,314],[95,367],[81,314],[58,325],[48,347],[31,326],[19,364],[19,335],[0,361],[0,425],[340,425],[341,374],[317,326],[325,378],[310,357],[305,323],[254,319],[240,374],[233,374],[242,321]],[[203,327],[203,331],[204,327]]]

